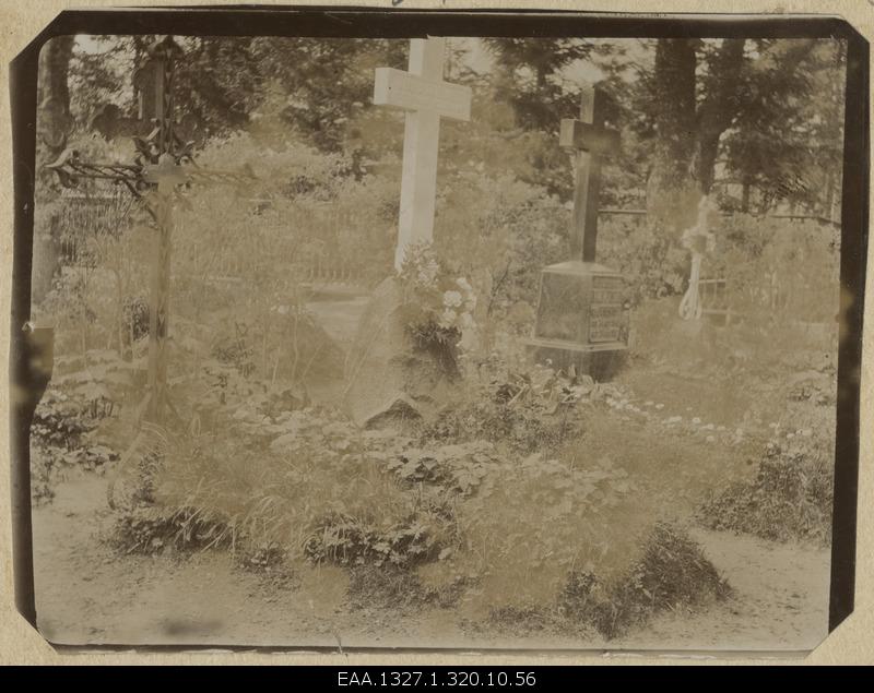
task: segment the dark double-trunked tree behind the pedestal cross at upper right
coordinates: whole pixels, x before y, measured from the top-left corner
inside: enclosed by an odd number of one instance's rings
[[[807,171],[834,179],[840,160],[841,50],[814,39],[659,39],[631,101],[646,115],[653,216],[688,225],[720,164],[729,180],[759,187],[766,207],[812,203]]]

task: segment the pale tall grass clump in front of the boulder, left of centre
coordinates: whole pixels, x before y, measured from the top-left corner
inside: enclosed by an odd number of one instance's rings
[[[415,512],[414,499],[364,454],[253,442],[227,428],[180,446],[156,479],[155,501],[223,527],[232,547],[279,545],[292,558],[303,558],[307,539],[331,514],[387,526]]]

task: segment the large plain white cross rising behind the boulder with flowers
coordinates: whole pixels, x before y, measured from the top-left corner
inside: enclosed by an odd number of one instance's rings
[[[408,247],[430,241],[434,235],[440,117],[470,120],[471,116],[471,89],[444,82],[445,44],[445,38],[414,38],[410,41],[409,72],[376,69],[374,104],[406,111],[394,251],[394,266],[399,270]]]

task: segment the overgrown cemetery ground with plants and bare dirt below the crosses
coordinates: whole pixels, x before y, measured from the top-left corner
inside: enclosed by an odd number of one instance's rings
[[[653,303],[663,316],[676,300]],[[365,304],[308,306],[347,348]],[[40,630],[58,643],[812,647],[827,624],[834,374],[713,379],[676,351],[633,348],[602,384],[529,367],[522,392],[492,373],[436,422],[367,430],[326,404],[335,375],[259,411],[237,373],[211,433],[154,443],[162,470],[126,510],[106,503],[125,451],[94,444],[123,439],[120,417],[82,413],[79,445],[33,445]],[[91,358],[119,380],[117,359]],[[44,413],[93,385],[63,369]]]

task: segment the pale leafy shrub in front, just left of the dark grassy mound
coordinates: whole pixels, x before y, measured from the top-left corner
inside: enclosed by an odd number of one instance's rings
[[[604,458],[564,463],[532,454],[489,474],[456,507],[454,562],[481,576],[486,602],[512,594],[517,606],[552,601],[575,565],[607,571],[628,539],[604,516],[634,483]],[[612,513],[611,513],[612,514]]]

